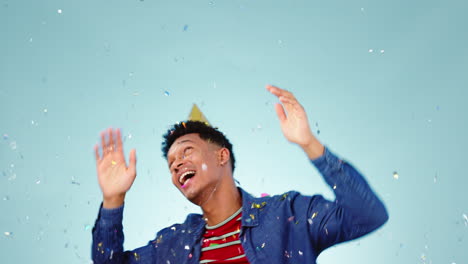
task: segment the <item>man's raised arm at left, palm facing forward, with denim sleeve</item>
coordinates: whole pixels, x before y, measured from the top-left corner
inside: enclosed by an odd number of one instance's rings
[[[120,130],[111,128],[101,133],[101,146],[94,150],[103,203],[93,228],[91,255],[94,263],[131,263],[131,254],[138,253],[123,252],[122,214],[125,194],[136,177],[135,150],[127,166]]]

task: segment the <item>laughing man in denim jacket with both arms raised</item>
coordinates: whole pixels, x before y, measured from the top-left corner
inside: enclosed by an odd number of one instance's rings
[[[102,133],[95,147],[103,203],[93,228],[94,263],[316,263],[324,249],[363,236],[388,219],[382,202],[353,166],[312,134],[292,93],[268,85],[287,140],[298,144],[332,187],[335,201],[290,191],[254,198],[233,179],[232,145],[203,122],[174,125],[163,153],[172,182],[203,215],[158,232],[146,246],[123,250],[122,214],[136,176],[135,150],[126,165],[120,131]],[[286,110],[286,111],[285,111]]]

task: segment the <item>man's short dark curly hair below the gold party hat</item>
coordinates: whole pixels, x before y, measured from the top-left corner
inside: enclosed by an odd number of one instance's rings
[[[236,159],[232,151],[232,144],[226,136],[218,130],[217,127],[211,127],[207,123],[200,121],[184,121],[173,125],[166,134],[163,135],[164,141],[162,143],[162,152],[164,158],[167,160],[167,152],[171,148],[176,139],[183,135],[197,133],[201,139],[209,140],[210,142],[229,150],[231,154],[231,169],[234,172]]]

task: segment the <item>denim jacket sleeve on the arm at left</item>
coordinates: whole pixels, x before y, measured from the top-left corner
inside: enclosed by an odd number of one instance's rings
[[[94,264],[99,263],[156,263],[156,240],[135,250],[124,251],[123,205],[115,209],[102,207],[92,230],[91,256]]]

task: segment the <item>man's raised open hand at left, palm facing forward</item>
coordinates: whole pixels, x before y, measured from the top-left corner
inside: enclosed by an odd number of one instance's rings
[[[99,150],[101,149],[101,154]],[[94,146],[98,182],[103,194],[103,207],[117,208],[125,199],[136,177],[136,151],[130,151],[127,166],[120,129],[101,132],[101,147]]]

